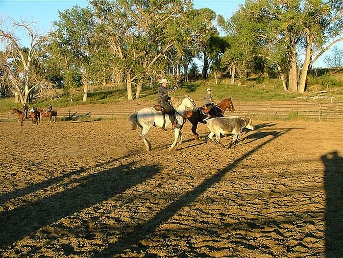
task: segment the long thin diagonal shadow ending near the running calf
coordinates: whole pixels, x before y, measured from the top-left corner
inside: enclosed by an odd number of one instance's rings
[[[130,248],[133,244],[137,244],[141,239],[145,238],[147,235],[151,234],[159,225],[166,222],[169,218],[171,218],[178,210],[182,207],[190,205],[192,202],[196,200],[204,191],[208,188],[211,188],[214,184],[221,181],[221,179],[225,176],[226,173],[231,171],[235,168],[238,164],[248,158],[250,155],[261,149],[264,145],[270,143],[271,141],[277,139],[278,137],[288,133],[292,129],[287,129],[284,131],[280,131],[276,134],[272,139],[269,139],[263,143],[261,143],[256,148],[250,150],[249,152],[245,153],[242,157],[235,160],[231,165],[225,167],[218,173],[216,173],[213,177],[204,180],[202,184],[197,186],[193,189],[193,191],[188,192],[180,197],[178,201],[173,202],[171,205],[167,206],[165,209],[161,210],[156,214],[156,216],[140,225],[137,225],[130,233],[123,236],[119,241],[113,244],[109,244],[108,248],[105,249],[103,252],[94,253],[95,258],[105,258],[105,257],[113,257],[114,255],[121,254],[125,249]],[[143,247],[145,248],[145,247]]]

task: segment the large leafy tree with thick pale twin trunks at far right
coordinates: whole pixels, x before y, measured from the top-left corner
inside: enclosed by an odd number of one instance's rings
[[[311,66],[343,40],[340,0],[246,1],[238,15],[248,24],[245,35],[258,39],[255,54],[277,65],[284,88],[291,92],[304,93]],[[254,26],[258,34],[249,32]]]

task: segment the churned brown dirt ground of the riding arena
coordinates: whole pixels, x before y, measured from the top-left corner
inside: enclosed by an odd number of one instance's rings
[[[0,257],[343,257],[342,121],[253,122],[149,153],[125,119],[1,122]]]

